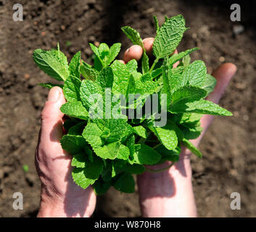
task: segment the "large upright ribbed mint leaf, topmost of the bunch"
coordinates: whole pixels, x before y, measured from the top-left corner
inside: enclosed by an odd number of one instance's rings
[[[185,20],[181,14],[168,19],[154,38],[154,56],[160,59],[172,54],[181,42],[185,30]]]

